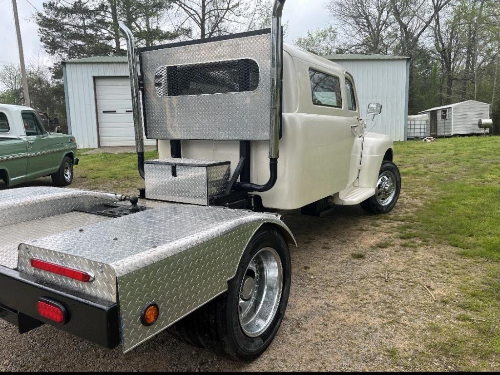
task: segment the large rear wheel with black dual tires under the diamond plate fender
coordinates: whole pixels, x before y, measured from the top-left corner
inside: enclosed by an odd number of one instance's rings
[[[175,323],[169,331],[198,347],[235,359],[255,359],[279,329],[290,281],[288,245],[275,227],[263,226],[246,246],[227,291]],[[242,307],[246,307],[247,314],[242,314]]]

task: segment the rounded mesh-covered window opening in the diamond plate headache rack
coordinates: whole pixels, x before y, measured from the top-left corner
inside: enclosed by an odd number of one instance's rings
[[[257,62],[250,58],[160,66],[154,86],[160,97],[254,91],[259,74]]]

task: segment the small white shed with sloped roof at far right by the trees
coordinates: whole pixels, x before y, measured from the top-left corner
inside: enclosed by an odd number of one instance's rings
[[[429,118],[426,135],[453,136],[466,134],[484,134],[489,129],[480,129],[480,119],[489,118],[489,104],[476,100],[442,105],[419,112]]]

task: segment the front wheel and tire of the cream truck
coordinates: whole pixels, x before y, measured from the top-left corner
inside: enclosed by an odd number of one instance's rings
[[[396,205],[401,190],[401,175],[396,164],[385,160],[382,162],[375,195],[361,202],[361,207],[369,213],[387,213]]]

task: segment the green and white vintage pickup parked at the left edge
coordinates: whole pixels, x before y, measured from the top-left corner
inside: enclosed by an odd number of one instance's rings
[[[73,136],[47,132],[32,108],[0,104],[0,179],[7,186],[44,176],[66,186],[77,163]]]

